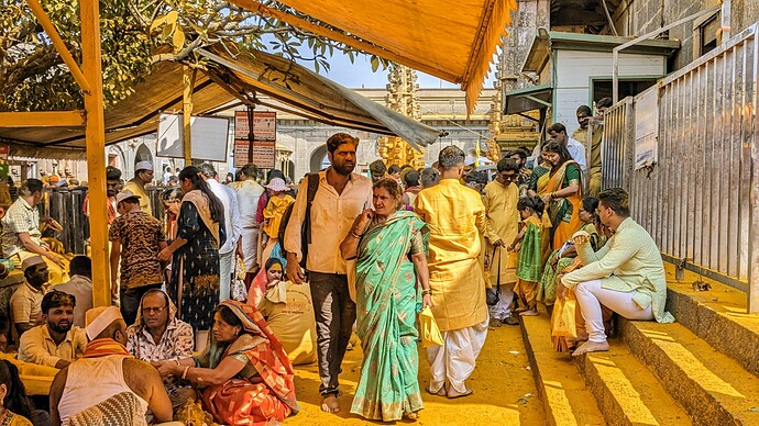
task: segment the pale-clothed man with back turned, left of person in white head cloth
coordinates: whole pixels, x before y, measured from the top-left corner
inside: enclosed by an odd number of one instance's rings
[[[257,250],[258,250],[258,222],[255,220],[258,199],[264,193],[264,187],[255,181],[258,169],[255,165],[242,167],[239,182],[229,184],[238,195],[238,208],[240,209],[241,239],[243,262],[248,272],[258,271]]]

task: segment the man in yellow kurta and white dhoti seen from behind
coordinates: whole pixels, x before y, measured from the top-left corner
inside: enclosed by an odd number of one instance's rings
[[[427,392],[448,397],[472,393],[464,381],[485,344],[488,320],[479,261],[481,234],[487,226],[485,206],[476,191],[459,182],[464,158],[457,146],[443,148],[438,160],[440,183],[421,190],[414,208],[430,228],[432,314],[444,340],[427,348],[432,372]]]

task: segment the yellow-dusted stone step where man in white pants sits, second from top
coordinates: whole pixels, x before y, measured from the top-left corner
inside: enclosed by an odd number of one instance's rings
[[[759,424],[759,379],[681,324],[619,318],[630,351],[698,425]]]

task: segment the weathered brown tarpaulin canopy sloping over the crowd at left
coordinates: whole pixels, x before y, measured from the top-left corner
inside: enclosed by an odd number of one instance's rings
[[[398,135],[416,148],[433,143],[440,133],[284,58],[263,52],[232,57],[222,48],[200,53],[210,60],[196,77],[196,115],[215,113],[237,99],[264,104],[254,96],[261,92],[278,101],[267,107],[284,104],[288,112],[319,122]],[[180,64],[156,65],[134,93],[106,111],[106,143],[155,132],[162,112],[182,112],[183,74]],[[84,126],[0,127],[0,141],[14,144],[14,152],[47,158],[77,158],[73,150],[86,145]]]

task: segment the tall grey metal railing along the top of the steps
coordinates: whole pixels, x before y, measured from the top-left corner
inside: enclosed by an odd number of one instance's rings
[[[634,218],[667,260],[749,293],[759,312],[759,23],[663,79],[658,162],[635,170],[635,100],[604,116],[604,188],[630,193]]]

